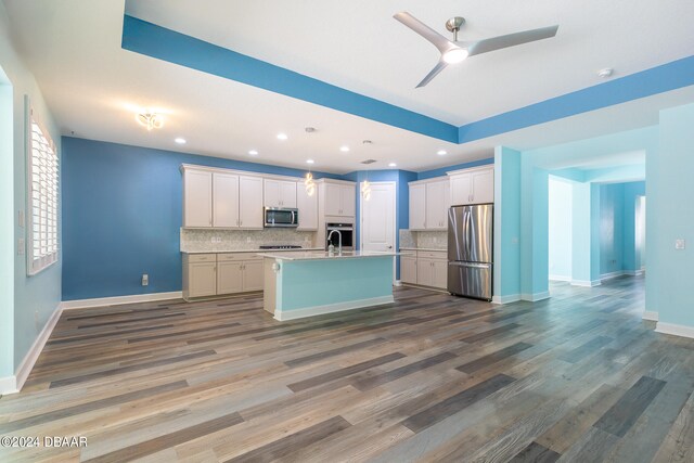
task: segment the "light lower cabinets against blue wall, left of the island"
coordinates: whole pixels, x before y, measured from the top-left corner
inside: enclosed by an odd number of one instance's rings
[[[183,298],[262,291],[262,258],[253,253],[184,254]]]

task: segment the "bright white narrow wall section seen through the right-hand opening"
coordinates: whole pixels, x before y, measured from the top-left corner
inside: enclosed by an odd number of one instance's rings
[[[550,280],[571,280],[571,184],[550,176],[549,273]]]

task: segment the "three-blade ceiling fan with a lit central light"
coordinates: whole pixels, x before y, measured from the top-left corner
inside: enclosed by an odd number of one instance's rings
[[[453,33],[452,41],[448,40],[446,37],[441,36],[439,33],[432,29],[429,26],[422,23],[420,20],[412,16],[407,11],[397,13],[393,17],[432,42],[434,47],[436,47],[441,53],[441,57],[438,64],[434,66],[429,74],[427,74],[426,77],[424,77],[424,79],[416,86],[417,89],[427,85],[449,64],[458,64],[468,56],[500,50],[502,48],[515,47],[536,40],[549,39],[550,37],[554,37],[556,35],[556,30],[560,28],[558,25],[548,26],[541,27],[539,29],[524,30],[522,33],[492,37],[490,39],[465,42],[458,41],[458,31],[465,24],[464,17],[455,16],[446,22],[446,28]]]

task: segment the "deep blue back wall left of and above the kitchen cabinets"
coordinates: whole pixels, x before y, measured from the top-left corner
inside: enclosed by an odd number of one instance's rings
[[[183,163],[295,177],[305,173],[63,138],[63,300],[181,290],[179,167]],[[150,274],[149,286],[140,284],[142,273]]]

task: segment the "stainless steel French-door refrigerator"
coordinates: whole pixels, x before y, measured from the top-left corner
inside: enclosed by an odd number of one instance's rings
[[[491,300],[493,204],[448,210],[448,292]]]

